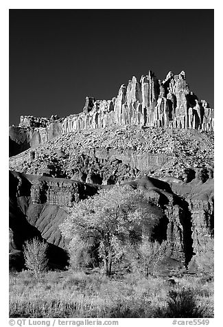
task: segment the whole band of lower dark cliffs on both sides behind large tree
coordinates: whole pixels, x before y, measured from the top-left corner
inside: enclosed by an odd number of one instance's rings
[[[213,236],[210,180],[202,184],[193,180],[183,185],[170,185],[166,181],[143,177],[126,184],[143,190],[151,203],[161,207],[163,216],[154,230],[154,239],[159,242],[167,240],[167,255],[187,265],[193,253],[199,251],[198,244],[205,242],[204,234],[205,238]],[[64,267],[67,264],[66,243],[58,226],[67,217],[68,208],[76,201],[92,196],[97,190],[110,187],[113,186],[10,172],[12,267],[18,268],[18,263],[22,267],[23,243],[34,236],[44,238],[49,243],[52,267]]]

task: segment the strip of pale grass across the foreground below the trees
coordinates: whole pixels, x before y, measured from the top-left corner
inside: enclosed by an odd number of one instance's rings
[[[10,317],[213,317],[213,281],[186,275],[174,286],[164,278],[127,274],[29,271],[10,274]]]

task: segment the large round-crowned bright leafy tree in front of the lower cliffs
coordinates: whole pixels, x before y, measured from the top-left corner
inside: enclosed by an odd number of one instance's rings
[[[97,254],[110,277],[113,262],[121,260],[130,245],[140,243],[143,234],[150,238],[161,215],[161,209],[150,204],[143,191],[115,185],[75,203],[60,229],[70,240],[71,256],[80,245],[95,240]]]

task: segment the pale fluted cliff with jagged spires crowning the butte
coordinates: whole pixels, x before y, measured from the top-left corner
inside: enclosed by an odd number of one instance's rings
[[[158,80],[149,71],[140,80],[133,76],[127,87],[121,84],[117,98],[86,97],[79,114],[64,118],[21,116],[19,127],[10,127],[10,155],[36,148],[52,137],[72,131],[114,125],[213,131],[213,119],[213,109],[208,102],[198,102],[189,90],[184,71],[178,75],[169,71],[164,80]]]

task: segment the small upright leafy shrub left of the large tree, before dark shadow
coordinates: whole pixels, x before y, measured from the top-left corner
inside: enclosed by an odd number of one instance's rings
[[[35,278],[47,270],[47,248],[47,243],[41,242],[38,238],[27,240],[23,246],[25,267],[32,272]]]

